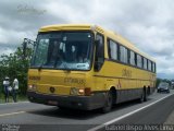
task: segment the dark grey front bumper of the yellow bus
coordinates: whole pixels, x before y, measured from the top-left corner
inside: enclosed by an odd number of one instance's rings
[[[58,95],[48,95],[39,94],[35,92],[27,92],[29,102],[53,105],[60,107],[67,107],[82,110],[91,110],[101,108],[104,106],[105,95],[104,93],[96,93],[91,96],[58,96]],[[54,103],[50,103],[54,102]]]

